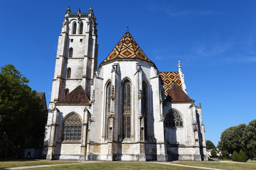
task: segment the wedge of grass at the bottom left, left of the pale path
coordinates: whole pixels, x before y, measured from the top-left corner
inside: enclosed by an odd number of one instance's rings
[[[78,163],[78,162],[17,159],[17,160],[10,160],[10,161],[0,161],[0,169],[18,167],[18,166],[36,166],[36,165],[45,165],[45,164],[69,164],[69,163]]]

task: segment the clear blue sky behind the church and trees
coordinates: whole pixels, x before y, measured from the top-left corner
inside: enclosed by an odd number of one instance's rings
[[[202,103],[206,140],[256,118],[256,1],[0,1],[0,66],[14,64],[50,101],[58,35],[68,6],[97,17],[98,65],[129,32],[160,72],[177,72]]]

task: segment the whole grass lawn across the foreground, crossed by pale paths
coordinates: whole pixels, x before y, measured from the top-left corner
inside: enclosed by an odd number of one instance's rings
[[[70,164],[77,163],[77,164]],[[18,167],[18,166],[37,166],[37,165],[50,165],[50,164],[62,164],[59,166],[45,166],[31,169],[174,169],[174,170],[188,170],[193,169],[191,167],[174,166],[171,164],[183,164],[189,166],[202,166],[215,169],[256,169],[256,162],[250,161],[250,163],[238,163],[238,162],[171,162],[166,164],[157,164],[154,162],[67,162],[67,161],[48,161],[48,160],[11,160],[1,161],[0,169]]]

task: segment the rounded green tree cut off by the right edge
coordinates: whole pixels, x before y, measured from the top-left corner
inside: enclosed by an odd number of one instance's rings
[[[252,153],[256,149],[256,119],[250,121],[245,127],[242,135],[242,149],[247,157],[252,157]]]

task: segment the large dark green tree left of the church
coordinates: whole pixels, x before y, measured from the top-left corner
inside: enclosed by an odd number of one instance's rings
[[[0,72],[0,135],[3,132],[15,145],[24,137],[40,137],[44,132],[44,115],[40,98],[28,86],[28,79],[12,64]]]

